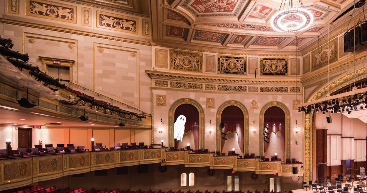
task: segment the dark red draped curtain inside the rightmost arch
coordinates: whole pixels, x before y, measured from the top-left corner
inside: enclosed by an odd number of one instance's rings
[[[280,132],[284,150],[286,149],[286,115],[279,107],[270,107],[264,113],[264,126],[268,126],[268,133]],[[268,135],[270,137],[270,135]],[[265,138],[265,137],[264,137]],[[271,140],[271,139],[270,139]],[[268,140],[268,142],[270,142]],[[269,143],[264,142],[264,151],[268,150]]]

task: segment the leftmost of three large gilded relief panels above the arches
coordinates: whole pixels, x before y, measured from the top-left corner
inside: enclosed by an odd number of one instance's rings
[[[178,71],[203,72],[203,54],[199,52],[170,51],[170,68]]]

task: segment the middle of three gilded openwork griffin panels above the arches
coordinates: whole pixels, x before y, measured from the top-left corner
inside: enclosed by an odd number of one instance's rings
[[[246,75],[246,57],[217,55],[218,74]]]

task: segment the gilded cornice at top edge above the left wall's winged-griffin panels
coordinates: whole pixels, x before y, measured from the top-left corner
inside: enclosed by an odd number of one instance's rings
[[[100,1],[96,1],[96,0],[63,0],[66,2],[70,2],[70,3],[76,3],[79,5],[86,5],[86,6],[92,6],[92,7],[96,7],[96,8],[101,8],[104,10],[110,10],[110,11],[117,11],[117,12],[121,12],[124,14],[130,14],[130,15],[136,15],[139,17],[145,17],[145,18],[149,18],[150,15],[148,14],[143,14],[139,12],[139,8],[134,9],[133,8],[128,8],[128,7],[124,7],[124,6],[118,6],[118,5],[114,5],[112,3],[103,3]],[[133,0],[132,2],[134,3],[134,1],[137,0]],[[138,2],[135,2],[135,6],[137,5]]]

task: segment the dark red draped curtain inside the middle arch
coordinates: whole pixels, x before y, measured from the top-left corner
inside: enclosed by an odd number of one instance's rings
[[[222,111],[222,122],[226,125],[223,128],[223,132],[235,132],[238,136],[238,144],[243,152],[243,112],[236,106],[228,106]],[[226,140],[222,139],[222,149]]]

